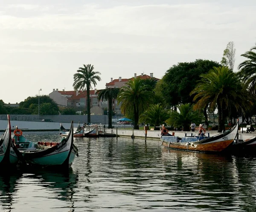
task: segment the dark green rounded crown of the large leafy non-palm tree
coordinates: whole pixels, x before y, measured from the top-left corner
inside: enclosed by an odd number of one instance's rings
[[[212,67],[219,66],[217,62],[196,60],[189,63],[178,63],[166,71],[162,78],[162,87],[158,87],[157,95],[161,94],[165,105],[175,107],[179,104],[193,103],[192,91],[200,75],[208,73]]]

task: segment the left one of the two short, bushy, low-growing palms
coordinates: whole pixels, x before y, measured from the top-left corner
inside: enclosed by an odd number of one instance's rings
[[[156,127],[169,119],[169,117],[169,111],[158,103],[157,105],[150,105],[148,109],[140,115],[140,122],[154,125],[154,130],[156,130]]]

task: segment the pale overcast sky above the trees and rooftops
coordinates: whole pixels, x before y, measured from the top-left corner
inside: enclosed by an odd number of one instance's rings
[[[101,73],[97,90],[162,78],[179,62],[220,62],[230,41],[237,70],[256,44],[255,11],[255,0],[0,0],[0,99],[73,90],[83,64]]]

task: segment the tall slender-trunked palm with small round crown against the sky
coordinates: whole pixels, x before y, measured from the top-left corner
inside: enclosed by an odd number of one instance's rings
[[[75,90],[80,90],[86,87],[87,94],[87,122],[90,123],[90,88],[91,84],[96,86],[96,80],[100,81],[99,72],[93,71],[94,67],[91,64],[84,65],[77,70],[77,73],[74,74],[74,83],[73,87]]]

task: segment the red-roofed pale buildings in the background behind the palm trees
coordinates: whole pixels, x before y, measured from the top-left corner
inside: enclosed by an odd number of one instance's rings
[[[142,79],[154,78],[153,73],[150,73],[150,76],[144,75],[143,73],[140,76],[134,74],[134,77],[128,79],[122,79],[119,77],[118,79],[111,78],[109,83],[106,83],[106,88],[116,87],[121,88],[125,86],[125,84],[132,80],[133,78],[140,77]],[[159,80],[155,78],[156,80]],[[103,115],[104,109],[108,108],[108,101],[98,100],[97,89],[90,90],[90,112],[92,115]],[[73,91],[65,91],[53,89],[52,93],[49,93],[49,97],[55,101],[59,106],[62,107],[73,107],[79,113],[82,113],[84,110],[87,110],[87,93],[86,90],[73,90]],[[113,100],[113,108],[116,116],[121,114],[120,105],[117,104],[117,100]]]

